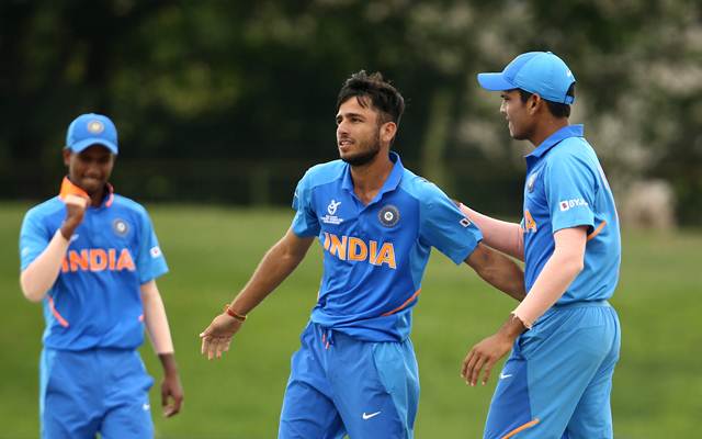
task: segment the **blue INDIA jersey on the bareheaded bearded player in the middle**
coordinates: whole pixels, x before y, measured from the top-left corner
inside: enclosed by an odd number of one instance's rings
[[[461,263],[482,239],[435,184],[405,169],[397,154],[390,160],[390,175],[367,205],[341,160],[310,168],[293,200],[293,232],[317,236],[324,249],[312,320],[367,341],[409,336],[431,247]]]

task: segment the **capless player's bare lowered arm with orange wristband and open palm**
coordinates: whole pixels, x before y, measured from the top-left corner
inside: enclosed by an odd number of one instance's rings
[[[303,260],[314,237],[298,237],[288,229],[263,256],[261,262],[247,282],[246,286],[228,306],[228,313],[222,313],[212,320],[210,326],[200,335],[202,338],[201,352],[207,358],[220,358],[229,350],[231,337],[239,330],[246,315],[253,309],[287,278]]]

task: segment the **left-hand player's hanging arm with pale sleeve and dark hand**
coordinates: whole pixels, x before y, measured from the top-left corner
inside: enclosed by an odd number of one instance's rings
[[[173,341],[168,327],[166,307],[155,280],[141,285],[141,302],[144,303],[144,322],[146,323],[147,333],[151,339],[154,350],[163,367],[163,381],[161,382],[163,415],[171,417],[180,412],[183,403],[183,387],[180,383],[178,365],[176,364]]]

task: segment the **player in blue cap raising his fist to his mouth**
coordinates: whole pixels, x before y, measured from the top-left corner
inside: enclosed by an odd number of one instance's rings
[[[22,292],[43,302],[42,438],[152,438],[152,379],[137,348],[144,328],[163,365],[163,414],[183,391],[156,278],[168,271],[151,221],[107,183],[117,132],[100,114],[68,127],[57,196],[31,209],[20,234]]]

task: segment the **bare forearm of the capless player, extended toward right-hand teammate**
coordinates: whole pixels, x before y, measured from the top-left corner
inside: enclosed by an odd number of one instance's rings
[[[483,245],[465,260],[480,278],[517,301],[524,299],[524,272],[507,256]]]

